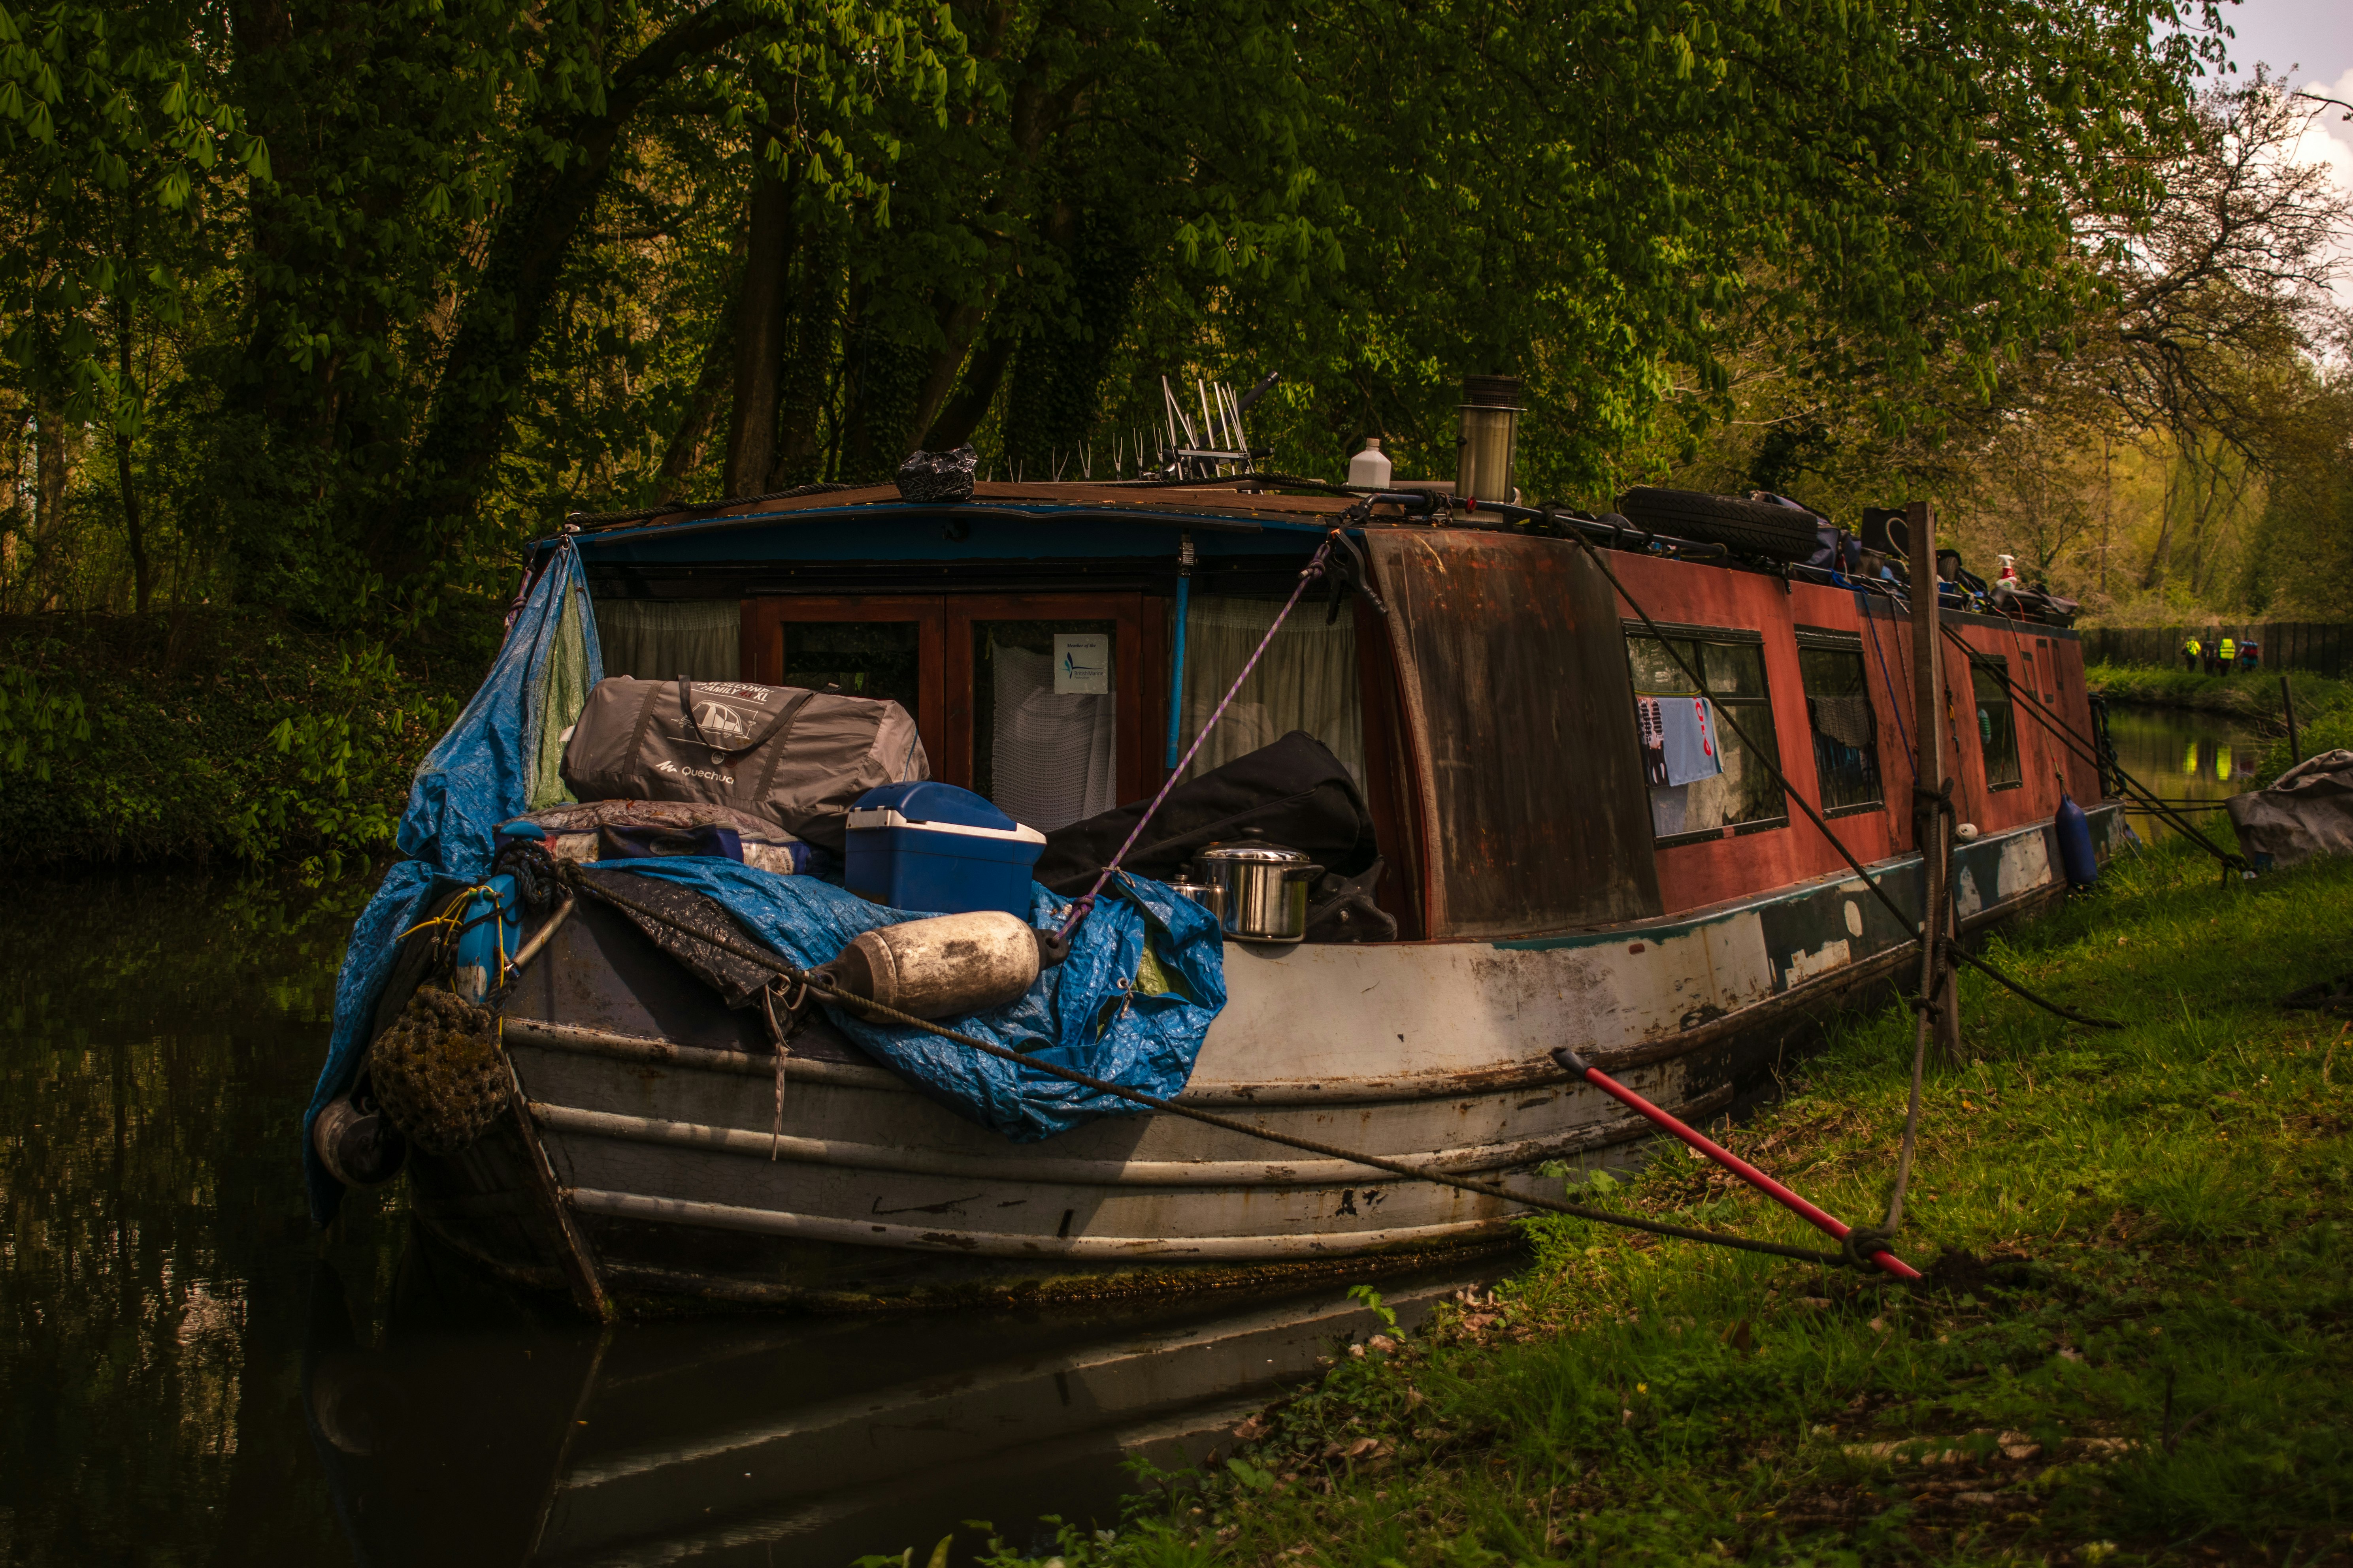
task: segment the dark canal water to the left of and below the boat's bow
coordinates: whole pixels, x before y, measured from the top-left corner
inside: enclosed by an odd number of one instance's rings
[[[332,1237],[296,1171],[365,886],[134,875],[0,907],[0,1559],[847,1568],[1118,1523],[1377,1331],[1271,1295],[586,1331],[487,1286],[398,1182]],[[1504,1260],[1508,1262],[1508,1260]],[[1504,1262],[1492,1262],[1501,1269]],[[1391,1279],[1414,1321],[1471,1276]]]

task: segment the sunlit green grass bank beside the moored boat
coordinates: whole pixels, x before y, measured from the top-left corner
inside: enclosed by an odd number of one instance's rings
[[[2174,844],[1995,947],[2127,1027],[1965,976],[1899,1241],[1927,1284],[1532,1220],[1492,1300],[1064,1568],[2353,1561],[2353,1039],[2278,1006],[2353,971],[2353,863],[2224,884]],[[1875,1218],[1908,1056],[1908,1016],[1849,1023],[1732,1145]],[[1802,1234],[1680,1150],[1612,1201]]]

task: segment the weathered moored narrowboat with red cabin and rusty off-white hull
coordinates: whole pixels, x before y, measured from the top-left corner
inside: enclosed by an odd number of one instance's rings
[[[1381,919],[1226,940],[1184,1105],[1534,1180],[1647,1131],[1553,1046],[1704,1121],[1918,961],[1753,752],[1918,910],[1913,632],[1885,585],[1835,567],[1600,522],[1619,597],[1579,541],[1508,508],[1249,477],[981,482],[951,501],[833,487],[574,520],[541,550],[576,552],[607,677],[892,698],[932,778],[1052,835],[1167,780],[1334,529],[1362,590],[1301,597],[1188,771],[1318,741],[1369,813]],[[2101,856],[2122,813],[2021,710],[2033,696],[2089,733],[2075,632],[1941,614],[1967,825],[1953,886],[1979,929],[2066,891],[2061,795],[2089,802]],[[1073,637],[1108,668],[1066,691],[1049,665]],[[821,1018],[779,1046],[758,1009],[591,900],[499,1006],[574,1244],[628,1295],[1205,1288],[1421,1265],[1499,1244],[1522,1213],[1176,1114],[1009,1143]],[[412,1204],[496,1274],[560,1288],[567,1244],[532,1159],[506,1124],[416,1152]]]

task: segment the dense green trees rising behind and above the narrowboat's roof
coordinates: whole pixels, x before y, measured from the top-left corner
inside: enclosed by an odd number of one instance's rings
[[[1134,473],[1162,376],[1449,477],[1520,374],[1522,484],[1588,498],[1760,367],[1934,440],[2219,134],[2172,14],[0,5],[0,607],[402,618],[569,510]]]

